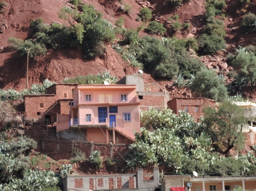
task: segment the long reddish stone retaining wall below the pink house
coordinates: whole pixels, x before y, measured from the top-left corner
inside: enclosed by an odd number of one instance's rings
[[[42,149],[48,156],[54,160],[70,159],[72,157],[72,151],[76,148],[85,153],[88,157],[92,151],[100,151],[101,156],[104,158],[122,159],[128,151],[129,145],[124,144],[103,144],[103,143],[90,143],[90,142],[76,142],[76,141],[62,141],[44,138],[42,140]],[[119,155],[118,154],[121,155]]]

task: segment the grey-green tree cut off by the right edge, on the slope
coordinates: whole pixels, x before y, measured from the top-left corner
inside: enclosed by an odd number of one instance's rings
[[[256,83],[256,56],[253,52],[239,52],[232,61],[232,66],[240,78],[246,77],[250,85]]]

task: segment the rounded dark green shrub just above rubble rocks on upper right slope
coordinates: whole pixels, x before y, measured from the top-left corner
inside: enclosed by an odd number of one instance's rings
[[[214,54],[217,50],[225,49],[225,40],[221,36],[203,34],[197,40],[199,48],[205,53]]]

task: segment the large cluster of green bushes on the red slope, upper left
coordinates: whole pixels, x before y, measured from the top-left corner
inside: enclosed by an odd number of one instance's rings
[[[72,2],[79,3],[79,0]],[[29,50],[31,57],[46,53],[46,48],[78,48],[82,50],[85,58],[100,56],[106,49],[104,42],[113,41],[115,38],[113,25],[102,19],[101,12],[97,12],[92,5],[80,5],[80,9],[81,14],[69,7],[60,10],[59,18],[67,21],[69,26],[57,23],[49,26],[39,18],[30,24],[35,40],[10,38],[9,43],[22,56],[26,54],[24,48]]]

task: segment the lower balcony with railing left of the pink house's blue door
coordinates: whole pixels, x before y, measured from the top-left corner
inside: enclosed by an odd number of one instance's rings
[[[72,118],[70,120],[70,126],[84,126],[84,127],[97,127],[97,126],[108,126],[108,118],[105,119],[98,119],[92,118],[88,121],[86,118]]]

